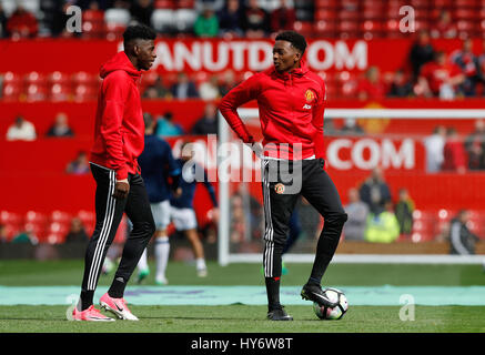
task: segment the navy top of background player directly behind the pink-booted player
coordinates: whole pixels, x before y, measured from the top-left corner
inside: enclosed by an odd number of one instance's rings
[[[170,199],[169,176],[180,175],[181,170],[172,155],[172,149],[161,138],[150,134],[144,138],[144,150],[138,163],[151,203]]]

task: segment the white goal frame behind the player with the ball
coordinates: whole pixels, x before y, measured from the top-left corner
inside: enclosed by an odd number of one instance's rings
[[[260,130],[257,109],[239,109],[241,119],[247,123],[251,121],[253,129]],[[347,118],[361,120],[476,120],[485,118],[485,110],[479,109],[326,109],[325,119]],[[446,122],[446,121],[444,121]],[[414,123],[414,121],[413,121]],[[325,125],[326,131],[326,125]],[[431,132],[430,132],[431,134]],[[365,138],[365,134],[363,135]],[[261,136],[260,136],[261,139]],[[219,113],[219,140],[218,146],[224,143],[238,142],[225,119]],[[220,162],[218,159],[218,169]],[[244,166],[242,168],[244,169]],[[262,263],[262,250],[260,251],[232,251],[232,214],[231,201],[234,196],[234,186],[230,181],[218,180],[220,200],[220,221],[218,233],[218,261],[220,265],[230,263]],[[261,183],[260,183],[261,184]],[[344,191],[340,191],[341,195]],[[247,222],[247,219],[245,220]],[[262,239],[262,237],[261,237]],[[262,247],[262,240],[261,247]],[[312,263],[314,261],[314,250],[306,252],[284,255],[285,262]],[[334,263],[415,263],[415,264],[482,264],[485,255],[447,255],[447,254],[335,254]]]

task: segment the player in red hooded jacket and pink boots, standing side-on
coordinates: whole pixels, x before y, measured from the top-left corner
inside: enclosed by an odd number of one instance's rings
[[[93,306],[93,296],[103,265],[123,212],[133,223],[120,265],[100,305],[119,318],[138,321],[123,298],[148,242],[155,232],[150,201],[140,175],[137,158],[143,151],[144,124],[138,84],[142,70],[149,70],[156,55],[156,33],[145,26],[128,27],[123,33],[124,51],[101,67],[100,93],[91,150],[91,172],[97,182],[93,235],[84,258],[81,298],[73,311],[75,321],[113,321]]]

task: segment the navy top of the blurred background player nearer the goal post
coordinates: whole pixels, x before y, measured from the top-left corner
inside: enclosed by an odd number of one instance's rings
[[[178,168],[182,171],[182,179],[180,179],[179,187],[182,189],[182,194],[179,197],[172,196],[170,204],[176,209],[193,209],[193,200],[195,195],[195,187],[198,182],[202,182],[211,196],[214,207],[218,206],[218,199],[215,197],[215,190],[209,182],[208,172],[201,165],[182,159],[175,160]],[[200,176],[198,176],[200,174]],[[202,176],[203,174],[203,176]],[[203,180],[202,180],[203,178]]]

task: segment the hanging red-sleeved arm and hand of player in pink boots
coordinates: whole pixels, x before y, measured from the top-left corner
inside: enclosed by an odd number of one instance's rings
[[[121,126],[123,122],[124,102],[129,93],[129,83],[124,73],[117,71],[104,79],[104,111],[101,120],[100,134],[104,140],[110,166],[117,172],[117,184],[113,196],[128,196],[128,166],[123,154],[123,138]]]

